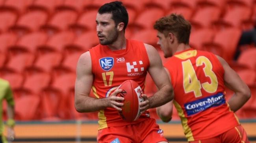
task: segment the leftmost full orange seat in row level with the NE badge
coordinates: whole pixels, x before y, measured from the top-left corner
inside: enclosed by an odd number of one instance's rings
[[[33,61],[34,55],[30,52],[20,52],[18,54],[11,53],[6,67],[21,73],[26,67],[30,67],[33,64]]]

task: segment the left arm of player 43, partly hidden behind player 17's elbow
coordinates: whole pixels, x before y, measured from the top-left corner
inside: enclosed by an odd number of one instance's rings
[[[167,72],[167,75],[169,76],[169,80],[171,81],[169,71],[166,68],[165,68],[165,71]],[[173,100],[166,103],[165,105],[157,107],[156,111],[162,121],[164,122],[171,121],[172,115],[173,115]]]

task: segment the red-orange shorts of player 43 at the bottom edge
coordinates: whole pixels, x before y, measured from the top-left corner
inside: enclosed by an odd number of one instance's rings
[[[219,136],[202,139],[197,141],[189,141],[189,143],[250,143],[247,138],[245,129],[241,125],[238,125]]]

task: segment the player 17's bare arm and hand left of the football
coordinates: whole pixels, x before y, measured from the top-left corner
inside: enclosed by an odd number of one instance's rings
[[[117,110],[122,110],[117,106],[122,106],[123,103],[117,102],[124,100],[116,95],[121,90],[116,90],[108,98],[95,99],[89,97],[91,87],[93,85],[93,73],[91,72],[91,56],[89,52],[82,54],[78,60],[76,67],[76,83],[75,83],[75,108],[78,112],[94,112],[103,110],[106,107],[113,107]],[[117,101],[116,101],[117,100]]]

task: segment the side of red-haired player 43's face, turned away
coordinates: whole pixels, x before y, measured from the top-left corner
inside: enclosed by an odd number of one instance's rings
[[[158,31],[157,37],[158,37],[157,44],[160,45],[164,53],[164,57],[168,58],[170,56],[173,56],[171,51],[172,49],[171,49],[171,42],[170,42],[169,36],[165,37],[163,33]]]

